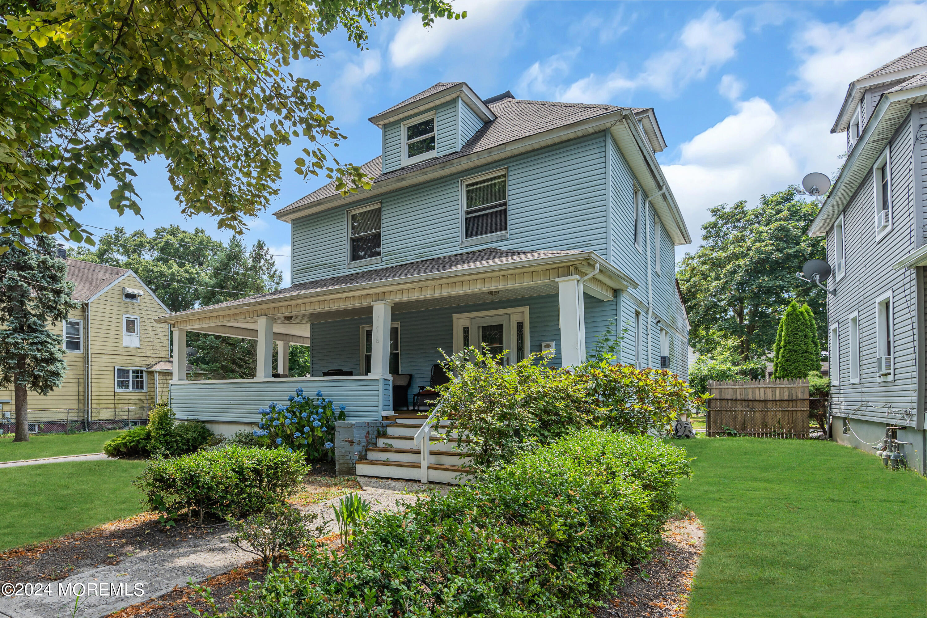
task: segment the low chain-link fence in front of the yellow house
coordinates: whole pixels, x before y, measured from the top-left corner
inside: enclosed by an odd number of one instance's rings
[[[149,406],[29,410],[30,434],[75,434],[131,429],[148,423]],[[0,418],[0,435],[16,433],[16,412]]]

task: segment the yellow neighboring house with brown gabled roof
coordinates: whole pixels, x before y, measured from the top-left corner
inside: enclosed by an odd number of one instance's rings
[[[167,307],[133,271],[80,259],[67,263],[80,306],[54,328],[64,336],[68,373],[49,395],[29,394],[30,424],[147,418],[159,393],[167,398],[171,381],[171,327],[155,323]],[[13,397],[11,388],[0,389],[0,423],[15,417]]]

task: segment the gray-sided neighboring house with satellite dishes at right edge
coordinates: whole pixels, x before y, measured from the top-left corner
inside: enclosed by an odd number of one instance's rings
[[[886,428],[923,453],[927,265],[927,47],[852,82],[831,132],[840,176],[808,231],[827,235],[832,435],[872,452]]]

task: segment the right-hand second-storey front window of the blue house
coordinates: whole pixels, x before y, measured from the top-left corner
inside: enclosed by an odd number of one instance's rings
[[[499,240],[508,234],[508,170],[491,171],[461,181],[463,238],[478,242]]]

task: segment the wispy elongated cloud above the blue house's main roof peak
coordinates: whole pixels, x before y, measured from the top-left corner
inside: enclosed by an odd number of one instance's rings
[[[605,77],[593,73],[573,82],[556,97],[562,101],[604,103],[625,91],[645,88],[671,98],[679,95],[689,82],[705,79],[711,69],[734,57],[741,41],[740,20],[723,19],[712,8],[687,23],[676,43],[648,58],[637,75],[629,75],[621,67]]]

